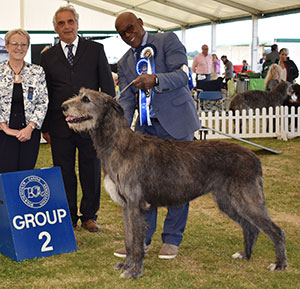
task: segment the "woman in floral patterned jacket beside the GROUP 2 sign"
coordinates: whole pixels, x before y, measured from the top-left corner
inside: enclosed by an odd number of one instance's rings
[[[15,29],[5,35],[9,60],[0,63],[0,173],[33,169],[48,107],[42,67],[24,61],[30,37]]]

